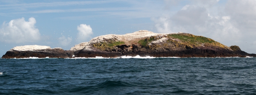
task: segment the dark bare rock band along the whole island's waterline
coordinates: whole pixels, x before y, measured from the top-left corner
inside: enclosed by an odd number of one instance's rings
[[[248,54],[238,46],[230,47],[233,51],[222,49],[222,48],[188,48],[184,47],[176,51],[170,51],[168,49],[152,50],[147,49],[139,44],[131,45],[118,45],[116,50],[112,51],[100,51],[94,47],[90,47],[89,50],[83,49],[79,51],[64,51],[63,49],[51,49],[46,51],[7,51],[2,58],[29,58],[29,57],[38,57],[38,58],[74,58],[74,57],[85,57],[85,58],[95,58],[104,57],[104,58],[117,58],[121,56],[137,56],[142,57],[151,56],[151,57],[256,57],[256,54]]]

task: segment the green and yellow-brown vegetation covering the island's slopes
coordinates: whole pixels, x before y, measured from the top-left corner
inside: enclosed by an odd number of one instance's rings
[[[161,42],[161,44],[150,44],[152,41],[156,41],[162,37],[167,37],[168,40],[166,42]],[[136,42],[140,44],[143,48],[157,50],[158,49],[167,49],[167,50],[179,50],[179,49],[189,49],[197,46],[206,46],[206,47],[221,47],[227,48],[227,46],[220,44],[210,38],[203,36],[195,36],[193,34],[188,33],[177,33],[177,34],[169,34],[169,35],[156,35],[147,37],[145,39],[136,39]],[[138,42],[137,42],[138,41]],[[130,43],[130,42],[129,42]],[[123,41],[118,41],[117,39],[108,39],[101,43],[93,44],[93,47],[101,50],[101,51],[113,51],[116,50],[117,45],[125,44]],[[228,49],[228,48],[227,48]]]

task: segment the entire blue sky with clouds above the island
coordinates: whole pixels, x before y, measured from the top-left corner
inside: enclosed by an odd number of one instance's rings
[[[0,56],[107,34],[185,32],[256,53],[256,0],[0,0]]]

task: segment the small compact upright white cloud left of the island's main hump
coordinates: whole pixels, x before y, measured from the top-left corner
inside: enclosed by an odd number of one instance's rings
[[[91,35],[93,34],[90,25],[80,24],[79,26],[77,26],[77,30],[77,38],[79,39],[79,41],[86,41],[88,37],[91,37]]]

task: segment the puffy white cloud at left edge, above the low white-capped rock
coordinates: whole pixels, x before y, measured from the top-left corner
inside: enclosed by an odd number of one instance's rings
[[[30,17],[13,19],[3,23],[0,29],[0,41],[7,43],[36,42],[40,39],[39,30],[35,28],[36,19]]]

